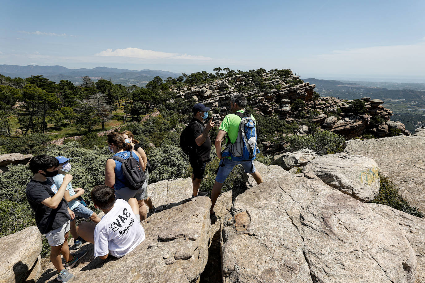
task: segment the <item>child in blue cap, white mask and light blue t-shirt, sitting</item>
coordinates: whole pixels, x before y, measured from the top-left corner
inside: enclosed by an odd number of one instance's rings
[[[57,156],[56,159],[59,162],[59,174],[53,177],[53,181],[57,188],[62,185],[65,174],[71,170],[71,158],[66,158],[62,155]],[[71,182],[68,183],[64,194],[64,199],[68,202],[68,207],[74,212],[75,216],[79,216],[85,219],[90,219],[94,223],[99,223],[100,218],[93,210],[85,207],[79,200],[78,197],[82,196],[84,190],[82,188],[72,188]],[[77,228],[75,225],[75,218],[71,220],[71,235],[74,238],[74,248],[78,249],[83,244],[83,239],[78,235]]]

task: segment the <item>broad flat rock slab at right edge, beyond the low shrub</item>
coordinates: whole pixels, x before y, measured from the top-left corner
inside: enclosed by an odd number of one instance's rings
[[[424,135],[348,140],[345,151],[375,160],[382,174],[399,187],[409,205],[425,213]]]

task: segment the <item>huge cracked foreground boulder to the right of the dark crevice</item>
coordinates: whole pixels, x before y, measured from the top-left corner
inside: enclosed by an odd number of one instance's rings
[[[223,282],[420,278],[416,254],[424,250],[412,248],[398,223],[312,173],[291,175],[278,166],[263,171],[255,165],[265,182],[237,196],[224,219]]]

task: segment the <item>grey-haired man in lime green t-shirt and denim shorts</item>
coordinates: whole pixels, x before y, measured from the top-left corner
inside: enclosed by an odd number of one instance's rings
[[[220,166],[217,169],[217,176],[215,177],[215,183],[212,187],[211,191],[211,208],[210,208],[210,214],[214,215],[214,205],[217,201],[218,195],[221,193],[221,188],[223,187],[224,181],[227,179],[227,176],[229,176],[230,172],[232,171],[233,167],[235,167],[238,164],[241,164],[244,167],[244,170],[246,173],[249,173],[254,177],[255,182],[257,184],[260,184],[263,182],[263,178],[261,177],[260,172],[255,170],[254,166],[254,159],[255,154],[257,151],[256,148],[256,129],[255,129],[255,123],[253,123],[253,129],[255,131],[255,143],[252,145],[253,152],[251,152],[252,157],[249,161],[239,161],[238,158],[233,157],[231,154],[229,155],[229,152],[227,152],[227,157],[223,157],[222,154],[224,154],[224,151],[221,152],[221,140],[223,140],[224,136],[226,136],[226,144],[234,145],[236,143],[236,140],[238,139],[239,133],[239,126],[241,124],[241,121],[243,117],[249,117],[249,115],[244,114],[244,107],[246,106],[246,98],[241,93],[235,93],[230,98],[230,112],[231,114],[226,115],[224,117],[223,122],[221,123],[220,127],[218,128],[218,134],[215,138],[215,150],[217,151],[217,157],[221,159]],[[252,119],[252,121],[255,122],[254,117],[251,115],[249,119]],[[251,122],[252,122],[251,121]],[[251,143],[251,139],[248,140],[248,143]],[[248,145],[247,145],[248,146]]]

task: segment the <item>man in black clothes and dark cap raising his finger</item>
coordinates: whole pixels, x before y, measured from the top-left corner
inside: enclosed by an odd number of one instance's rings
[[[210,109],[210,107],[206,107],[204,104],[195,104],[192,109],[193,118],[188,125],[190,127],[190,137],[193,137],[191,138],[193,141],[193,150],[189,154],[189,163],[193,168],[192,197],[207,195],[206,192],[198,191],[198,189],[202,178],[204,178],[205,166],[211,159],[211,140],[208,133],[215,127],[215,123],[212,122],[211,118],[206,127],[202,124],[208,118],[208,110]]]

